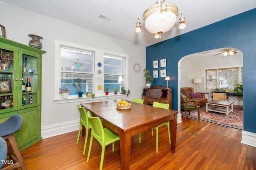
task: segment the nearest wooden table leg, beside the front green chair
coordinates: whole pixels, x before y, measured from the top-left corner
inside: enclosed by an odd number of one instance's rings
[[[121,132],[119,137],[120,137],[121,169],[129,170],[132,132],[131,131]]]

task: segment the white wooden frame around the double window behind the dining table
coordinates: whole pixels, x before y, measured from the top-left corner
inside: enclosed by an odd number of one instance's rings
[[[55,85],[54,85],[54,104],[60,104],[60,103],[68,103],[68,102],[81,102],[81,101],[93,101],[93,100],[102,100],[102,99],[106,99],[106,98],[120,98],[122,95],[123,97],[127,97],[124,94],[118,94],[118,95],[114,95],[114,93],[109,94],[108,96],[105,95],[104,93],[104,54],[111,54],[111,55],[116,55],[116,56],[120,56],[120,57],[124,57],[125,59],[125,84],[124,87],[125,89],[129,88],[129,84],[128,84],[128,63],[129,63],[129,55],[126,54],[121,54],[121,53],[116,53],[113,51],[106,51],[103,49],[97,49],[97,48],[93,48],[93,47],[87,47],[84,45],[78,45],[78,44],[74,44],[74,43],[68,43],[65,41],[59,41],[59,40],[55,40]],[[75,48],[75,49],[84,49],[84,50],[88,50],[88,51],[94,51],[94,59],[93,59],[93,84],[94,84],[94,94],[95,97],[94,98],[87,98],[84,94],[82,98],[78,98],[74,96],[69,96],[67,99],[62,99],[60,97],[59,94],[59,88],[60,88],[60,47],[71,47],[71,48]],[[98,67],[98,62],[102,63],[101,67]],[[98,70],[102,70],[102,74],[98,74]],[[102,77],[102,82],[98,82],[98,77],[101,76]],[[98,90],[97,86],[101,85],[102,86],[102,90]]]

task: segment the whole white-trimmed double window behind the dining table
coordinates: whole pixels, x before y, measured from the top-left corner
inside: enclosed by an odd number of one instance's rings
[[[105,95],[104,84],[118,88],[119,92],[121,86],[128,89],[128,55],[58,40],[55,40],[55,50],[55,104],[114,98],[112,90]],[[78,98],[78,91],[73,86],[78,83],[77,78],[82,84],[82,98]],[[59,88],[66,87],[71,90],[68,99],[61,99]],[[95,94],[94,99],[87,98],[86,92]]]

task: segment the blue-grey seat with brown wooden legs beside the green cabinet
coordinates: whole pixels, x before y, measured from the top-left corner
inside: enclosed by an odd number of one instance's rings
[[[20,167],[22,170],[26,170],[20,149],[13,135],[13,133],[20,129],[22,122],[23,120],[21,115],[16,114],[12,115],[4,123],[0,123],[0,137],[5,139],[7,144],[7,155],[9,155],[11,159],[9,162],[10,166],[7,166],[1,170],[12,170],[17,169],[18,167]]]

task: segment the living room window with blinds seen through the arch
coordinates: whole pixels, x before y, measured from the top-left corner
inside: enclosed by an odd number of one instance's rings
[[[205,68],[205,89],[234,89],[236,84],[243,84],[243,67]]]

